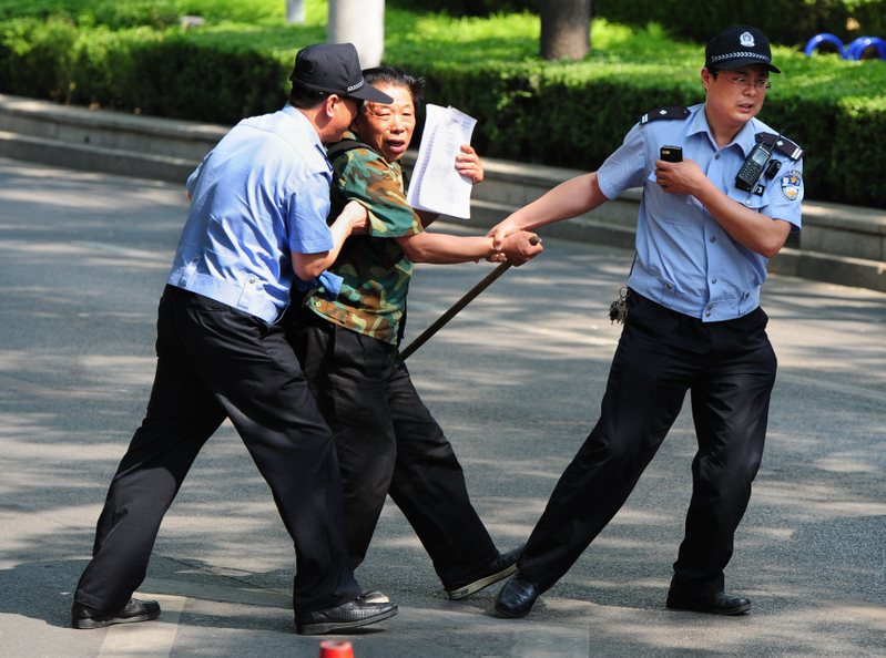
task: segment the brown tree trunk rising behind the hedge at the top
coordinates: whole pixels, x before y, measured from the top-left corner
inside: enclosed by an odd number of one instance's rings
[[[591,50],[591,0],[540,0],[541,56],[580,60]]]

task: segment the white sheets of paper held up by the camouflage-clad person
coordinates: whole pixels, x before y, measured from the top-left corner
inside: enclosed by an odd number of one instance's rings
[[[461,219],[470,217],[473,184],[456,169],[456,155],[470,144],[477,120],[455,107],[427,105],[425,131],[413,171],[407,202],[418,210],[429,210]]]

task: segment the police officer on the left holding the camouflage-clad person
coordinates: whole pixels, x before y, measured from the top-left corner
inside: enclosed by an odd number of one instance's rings
[[[364,83],[352,44],[299,51],[292,80],[283,110],[242,121],[187,181],[191,212],[160,301],[147,413],[108,492],[74,594],[74,628],[160,615],[156,602],[132,594],[163,515],[225,418],[295,542],[298,633],[342,633],[397,613],[354,579],[333,438],[276,323],[293,284],[316,287],[345,238],[366,225],[354,204],[326,226],[332,167],[322,143],[342,137],[358,101],[391,99]]]

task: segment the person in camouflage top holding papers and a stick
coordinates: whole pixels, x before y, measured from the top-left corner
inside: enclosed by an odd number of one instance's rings
[[[507,257],[519,265],[541,247],[530,245],[529,233],[500,250],[487,237],[425,233],[434,217],[422,220],[407,204],[398,162],[415,127],[421,81],[395,69],[364,75],[391,90],[395,103],[365,104],[345,134],[363,144],[332,158],[330,218],[336,207],[357,201],[368,209],[370,232],[345,244],[329,269],[343,279],[338,295],[328,299],[320,288],[298,313],[289,340],[335,436],[353,566],[363,562],[390,494],[449,597],[462,598],[512,573],[517,552],[501,555],[496,548],[471,505],[452,446],[399,356],[409,279],[415,261]],[[482,179],[479,158],[470,147],[464,151],[457,168]]]

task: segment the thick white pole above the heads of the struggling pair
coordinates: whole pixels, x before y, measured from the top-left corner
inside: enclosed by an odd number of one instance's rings
[[[329,0],[327,43],[353,43],[364,69],[385,53],[385,0]]]

